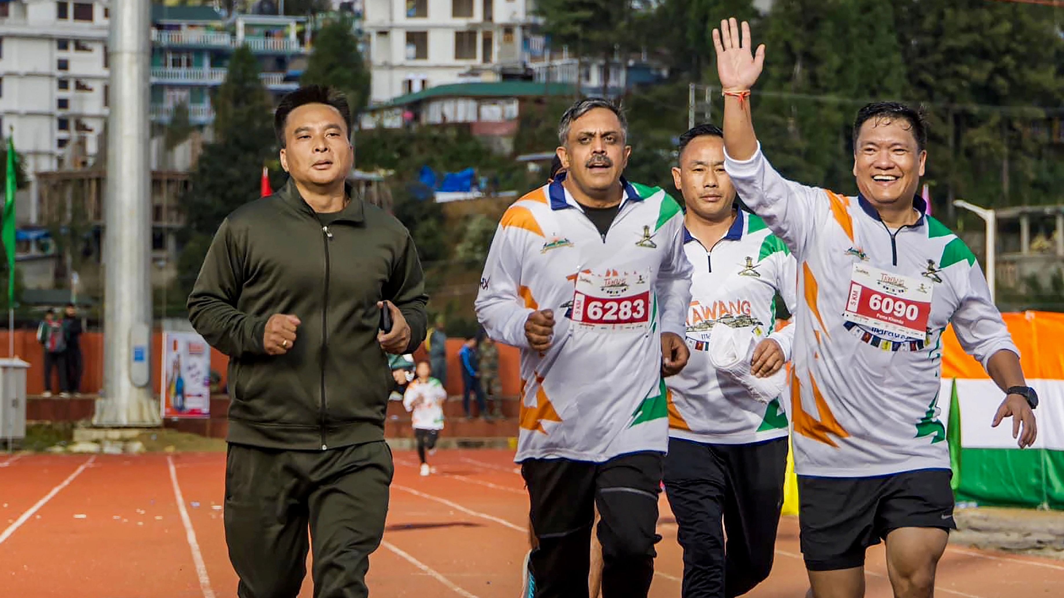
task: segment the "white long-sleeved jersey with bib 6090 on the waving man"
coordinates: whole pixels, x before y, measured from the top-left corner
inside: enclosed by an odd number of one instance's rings
[[[796,472],[948,469],[937,406],[946,326],[984,367],[997,351],[1019,354],[975,255],[930,216],[892,233],[863,197],[785,180],[760,147],[725,166],[798,261],[789,412]],[[919,197],[915,207],[927,212]]]

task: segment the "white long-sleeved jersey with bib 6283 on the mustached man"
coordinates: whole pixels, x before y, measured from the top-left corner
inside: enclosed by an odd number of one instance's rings
[[[621,183],[605,235],[560,179],[511,205],[492,242],[477,317],[521,349],[517,462],[668,447],[661,334],[683,336],[691,301],[683,214],[662,189]],[[536,310],[554,311],[544,353],[525,337]]]

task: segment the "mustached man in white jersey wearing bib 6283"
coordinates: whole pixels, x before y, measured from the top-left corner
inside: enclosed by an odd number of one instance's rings
[[[487,334],[521,349],[515,461],[537,598],[586,598],[595,505],[605,598],[647,595],[661,539],[664,377],[688,358],[691,265],[679,204],[621,177],[626,138],[606,100],[566,111],[566,172],[503,214],[477,298]]]

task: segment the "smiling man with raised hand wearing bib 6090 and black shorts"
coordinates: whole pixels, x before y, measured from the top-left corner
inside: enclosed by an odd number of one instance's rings
[[[929,598],[955,528],[937,417],[947,325],[1005,394],[992,425],[1011,416],[1020,448],[1034,442],[1037,397],[975,255],[916,196],[927,159],[920,115],[891,102],[858,113],[857,197],[787,181],[750,118],[764,46],[751,52],[745,22],[742,40],[735,19],[720,24],[725,166],[798,261],[791,417],[812,594],[863,596],[865,549],[885,539],[894,595]]]

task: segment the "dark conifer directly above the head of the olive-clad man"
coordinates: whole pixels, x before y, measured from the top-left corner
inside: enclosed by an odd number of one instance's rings
[[[352,116],[365,107],[369,97],[369,71],[359,52],[359,39],[350,18],[340,17],[318,30],[300,84],[339,89],[347,95]]]

